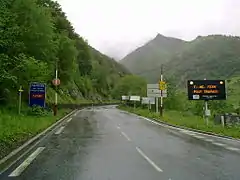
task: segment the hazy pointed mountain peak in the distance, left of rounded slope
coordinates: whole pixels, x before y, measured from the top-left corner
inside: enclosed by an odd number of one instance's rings
[[[181,51],[185,44],[186,42],[180,39],[158,34],[153,40],[123,58],[120,63],[132,73],[139,74],[168,62],[171,55]]]

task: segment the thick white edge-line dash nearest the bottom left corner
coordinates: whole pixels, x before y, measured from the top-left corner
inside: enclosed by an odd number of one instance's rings
[[[31,162],[45,149],[45,147],[39,147],[34,151],[22,164],[20,164],[9,177],[19,176],[30,164]]]

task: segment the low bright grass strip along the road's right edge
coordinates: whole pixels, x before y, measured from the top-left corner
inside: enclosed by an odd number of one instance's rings
[[[187,127],[191,129],[201,130],[205,132],[211,132],[219,135],[230,136],[233,138],[240,138],[240,127],[225,127],[221,125],[215,125],[212,120],[209,121],[207,126],[203,118],[195,116],[187,112],[179,111],[165,111],[162,118],[155,112],[149,112],[147,109],[136,108],[135,110],[131,107],[119,106],[119,109],[135,113],[140,116],[154,118],[159,121],[164,121],[168,124],[176,125],[179,127]]]

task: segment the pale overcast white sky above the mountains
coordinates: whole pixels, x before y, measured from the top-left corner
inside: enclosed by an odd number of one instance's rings
[[[240,35],[240,0],[58,0],[76,32],[116,58],[157,33]]]

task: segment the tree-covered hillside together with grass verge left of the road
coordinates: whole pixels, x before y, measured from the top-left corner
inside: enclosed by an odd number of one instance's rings
[[[60,109],[54,117],[51,110],[27,107],[31,82],[47,85],[49,108],[55,92],[59,104],[114,102],[112,91],[128,70],[77,34],[58,2],[2,0],[0,14],[0,158],[69,112]]]

